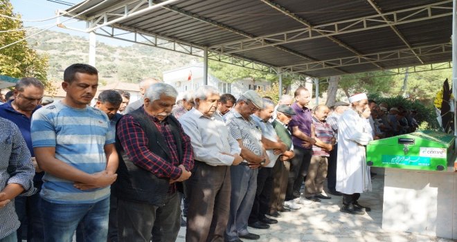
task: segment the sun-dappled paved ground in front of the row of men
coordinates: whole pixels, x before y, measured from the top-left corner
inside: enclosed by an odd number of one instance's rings
[[[321,203],[304,205],[301,210],[283,213],[279,223],[271,225],[269,230],[249,231],[260,234],[258,241],[298,242],[298,241],[440,241],[450,242],[433,236],[423,236],[405,232],[388,232],[382,230],[382,198],[384,192],[384,176],[375,176],[373,192],[362,194],[361,205],[372,208],[363,216],[343,214],[339,212],[341,196]],[[181,227],[178,242],[185,241],[186,227]],[[248,240],[245,240],[248,241]]]

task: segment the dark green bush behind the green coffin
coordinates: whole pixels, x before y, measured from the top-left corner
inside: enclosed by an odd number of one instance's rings
[[[377,102],[377,104],[380,104],[382,102],[386,102],[389,106],[389,108],[393,106],[403,106],[404,109],[407,110],[415,110],[418,112],[417,115],[415,115],[415,120],[418,121],[420,124],[419,130],[423,129],[432,129],[432,130],[439,130],[440,125],[438,124],[438,121],[436,120],[436,111],[435,107],[433,105],[431,106],[424,106],[419,101],[411,101],[408,100],[402,96],[397,96],[397,97],[380,97],[379,95],[369,95],[370,99],[373,99]]]

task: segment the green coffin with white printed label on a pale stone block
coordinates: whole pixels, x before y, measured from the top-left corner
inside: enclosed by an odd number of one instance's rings
[[[448,164],[454,166],[454,140],[429,130],[373,140],[366,147],[366,162],[373,167],[445,171]]]

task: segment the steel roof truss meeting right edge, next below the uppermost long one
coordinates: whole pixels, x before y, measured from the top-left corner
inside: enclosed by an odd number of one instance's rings
[[[413,51],[411,51],[413,50]],[[367,55],[356,55],[337,59],[328,59],[321,62],[309,62],[292,66],[283,66],[283,70],[292,73],[318,71],[334,67],[356,66],[359,64],[369,64],[371,62],[386,62],[391,60],[406,59],[411,57],[421,57],[428,55],[438,55],[451,53],[452,45],[436,44],[431,46],[420,46],[416,48],[404,48],[401,50],[384,51]]]

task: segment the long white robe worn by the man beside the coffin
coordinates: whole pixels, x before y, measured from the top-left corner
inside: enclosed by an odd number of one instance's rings
[[[367,120],[353,109],[346,110],[338,120],[336,189],[343,194],[371,190],[364,145],[373,140],[373,135],[367,130],[367,124]]]

